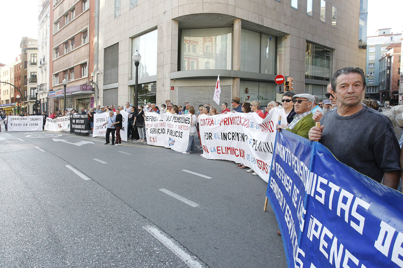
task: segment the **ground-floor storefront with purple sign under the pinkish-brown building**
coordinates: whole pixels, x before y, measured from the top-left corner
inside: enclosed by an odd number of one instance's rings
[[[49,92],[50,112],[64,109],[64,89]],[[91,85],[78,85],[66,88],[66,108],[68,110],[91,108],[94,106],[94,91]]]

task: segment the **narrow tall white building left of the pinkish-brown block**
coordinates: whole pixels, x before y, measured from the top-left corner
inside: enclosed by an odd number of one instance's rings
[[[49,112],[48,107],[48,90],[49,90],[49,66],[50,59],[50,0],[39,0],[39,17],[38,17],[38,73],[37,73],[37,90],[38,100],[41,102],[41,111]]]

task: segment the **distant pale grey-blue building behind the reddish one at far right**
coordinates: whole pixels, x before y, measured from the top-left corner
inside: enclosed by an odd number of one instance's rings
[[[399,42],[402,37],[401,33],[391,33],[391,28],[379,29],[374,36],[367,37],[367,88],[365,91],[366,98],[375,100],[386,100],[386,94],[382,97],[379,92],[380,77],[380,58],[386,53],[386,47],[391,43]],[[389,96],[390,97],[390,96]],[[382,99],[383,98],[383,99]]]

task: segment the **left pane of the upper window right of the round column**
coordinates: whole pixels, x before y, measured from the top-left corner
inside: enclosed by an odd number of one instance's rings
[[[259,72],[260,33],[241,29],[241,71]]]

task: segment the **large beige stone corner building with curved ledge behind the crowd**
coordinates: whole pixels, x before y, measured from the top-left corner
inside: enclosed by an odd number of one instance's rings
[[[295,92],[324,98],[335,70],[365,68],[360,4],[105,0],[96,36],[97,103],[134,103],[136,50],[139,104],[214,104],[218,75],[222,102],[281,99],[277,74],[294,78]]]

